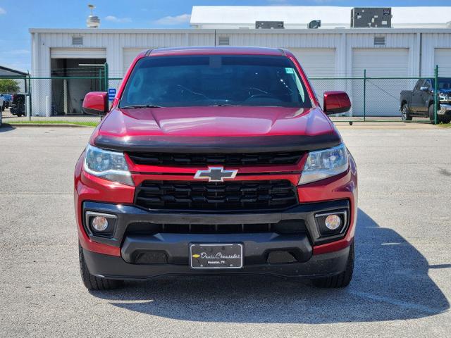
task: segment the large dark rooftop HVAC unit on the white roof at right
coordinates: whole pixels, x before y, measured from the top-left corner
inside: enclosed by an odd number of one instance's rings
[[[351,9],[351,28],[391,28],[392,8],[354,7]]]

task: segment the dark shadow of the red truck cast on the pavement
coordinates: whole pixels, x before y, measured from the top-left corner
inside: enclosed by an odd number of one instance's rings
[[[359,210],[354,278],[347,289],[316,289],[278,277],[162,277],[92,292],[138,313],[224,323],[340,323],[423,318],[450,304],[428,277],[426,258],[397,232]]]

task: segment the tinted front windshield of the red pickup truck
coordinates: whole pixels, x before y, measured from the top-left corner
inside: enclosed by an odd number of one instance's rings
[[[137,62],[120,107],[283,106],[309,108],[285,56],[151,56]]]

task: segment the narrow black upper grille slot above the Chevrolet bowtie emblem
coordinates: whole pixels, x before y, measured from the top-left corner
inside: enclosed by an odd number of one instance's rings
[[[171,154],[128,153],[135,164],[141,165],[290,165],[296,164],[304,153],[287,151],[255,154]]]

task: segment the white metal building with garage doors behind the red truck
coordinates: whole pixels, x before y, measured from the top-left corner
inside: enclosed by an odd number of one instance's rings
[[[432,27],[428,24],[429,14],[416,15],[423,18],[422,23],[416,23],[419,27],[412,27],[415,23],[401,25],[395,11],[397,8],[393,8],[393,28],[349,28],[350,8],[334,8],[338,14],[333,18],[337,22],[331,23],[329,20],[332,19],[328,18],[330,9],[324,8],[321,12],[321,7],[316,7],[314,14],[298,17],[299,27],[290,23],[281,14],[282,10],[277,9],[278,7],[275,7],[276,10],[273,7],[265,7],[269,13],[266,16],[263,14],[256,16],[257,10],[247,11],[249,16],[247,21],[238,24],[237,21],[245,21],[244,18],[247,18],[243,16],[244,14],[229,15],[228,22],[225,22],[222,18],[219,20],[208,7],[202,8],[208,9],[206,12],[209,16],[200,15],[196,8],[194,7],[192,11],[191,25],[200,29],[31,29],[32,76],[49,77],[64,72],[67,75],[70,71],[80,72],[78,69],[82,68],[80,65],[96,65],[106,61],[109,64],[109,77],[122,77],[139,51],[157,47],[214,45],[278,47],[290,49],[302,63],[309,77],[326,77],[323,80],[314,80],[317,94],[322,95],[327,89],[346,90],[352,97],[354,115],[362,112],[363,101],[359,94],[362,82],[341,79],[342,77],[363,77],[364,70],[368,77],[429,76],[433,74],[436,64],[440,66],[440,76],[451,76],[451,29],[447,28],[446,21],[451,20],[450,7],[442,7],[444,8],[442,11],[433,7],[423,9],[431,11],[431,15],[435,15],[436,11],[441,12],[440,16],[435,18],[435,22],[432,22]],[[283,13],[295,11],[293,8],[295,7],[284,7]],[[221,8],[214,10],[216,13]],[[277,11],[279,15],[273,14]],[[343,19],[340,19],[340,11],[346,13],[346,27],[344,14]],[[405,11],[412,14],[411,10]],[[421,8],[418,11],[421,11]],[[255,27],[252,20],[256,18],[285,20],[285,28],[256,30],[245,27],[245,24]],[[314,19],[321,19],[321,28],[307,29],[308,20]],[[218,22],[213,23],[214,20]],[[340,20],[343,20],[343,23]],[[208,25],[207,21],[210,21]],[[116,86],[117,83],[110,81],[109,86]],[[95,80],[74,82],[73,85],[61,81],[49,81],[47,85],[35,86],[32,83],[33,114],[48,115],[49,100],[54,106],[60,106],[64,113],[80,113],[85,92],[98,90],[99,85]],[[408,86],[410,85],[409,83]],[[399,114],[396,96],[399,96],[402,89],[409,89],[406,87],[407,82],[396,80],[390,83],[374,82],[374,86],[378,87],[381,93],[388,93],[389,99],[369,98],[369,101],[374,102],[373,106],[369,106],[374,110],[373,113]]]

